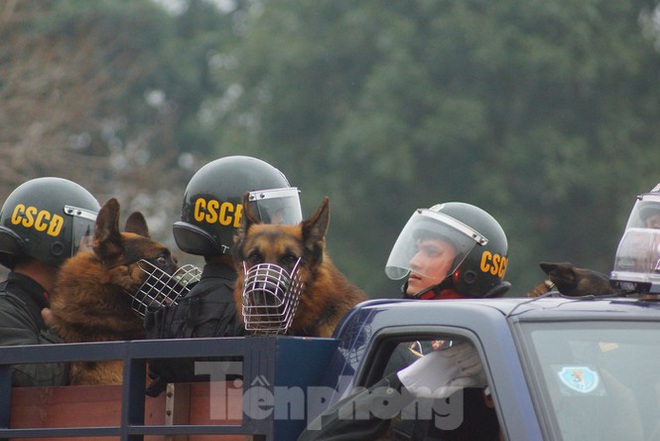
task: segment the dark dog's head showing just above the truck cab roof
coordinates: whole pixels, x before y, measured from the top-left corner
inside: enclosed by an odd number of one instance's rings
[[[578,268],[570,262],[541,262],[539,266],[548,275],[548,279],[532,288],[527,297],[538,297],[551,291],[559,291],[567,297],[608,295],[615,292],[609,278],[598,271]]]

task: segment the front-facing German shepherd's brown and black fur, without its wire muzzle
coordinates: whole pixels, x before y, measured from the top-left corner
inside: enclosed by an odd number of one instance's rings
[[[350,283],[328,257],[325,236],[330,201],[324,198],[316,212],[298,225],[264,224],[243,203],[243,221],[233,250],[238,280],[234,297],[241,318],[245,273],[259,264],[276,264],[290,272],[297,266],[300,301],[289,335],[330,337],[339,321],[367,296]]]

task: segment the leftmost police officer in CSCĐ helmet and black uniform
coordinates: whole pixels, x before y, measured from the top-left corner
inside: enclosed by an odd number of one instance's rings
[[[0,345],[61,343],[46,323],[48,295],[60,265],[93,236],[99,208],[83,187],[55,177],[27,181],[7,197],[0,211],[0,264],[11,272],[0,283]],[[68,382],[64,363],[12,371],[13,386]]]

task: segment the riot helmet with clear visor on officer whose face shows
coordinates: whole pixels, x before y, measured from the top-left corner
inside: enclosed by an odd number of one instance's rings
[[[503,281],[507,255],[506,235],[495,218],[474,205],[448,202],[415,210],[390,252],[385,273],[392,280],[408,277],[404,292],[415,278],[432,280],[408,297],[431,298],[445,289],[464,297],[499,297],[510,286]],[[418,264],[420,256],[436,263]]]

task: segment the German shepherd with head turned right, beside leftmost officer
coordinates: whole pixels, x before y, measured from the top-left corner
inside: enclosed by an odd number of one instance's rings
[[[51,295],[50,325],[67,343],[143,339],[142,317],[133,298],[148,274],[146,260],[172,273],[176,260],[163,244],[149,237],[140,212],[132,213],[125,232],[119,231],[119,203],[112,198],[96,217],[91,247],[82,248],[61,267]],[[120,384],[121,361],[74,362],[72,384]]]

